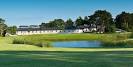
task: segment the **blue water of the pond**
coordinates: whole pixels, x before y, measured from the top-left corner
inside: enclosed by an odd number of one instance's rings
[[[52,43],[53,47],[77,47],[91,48],[102,47],[100,41],[57,41]]]

